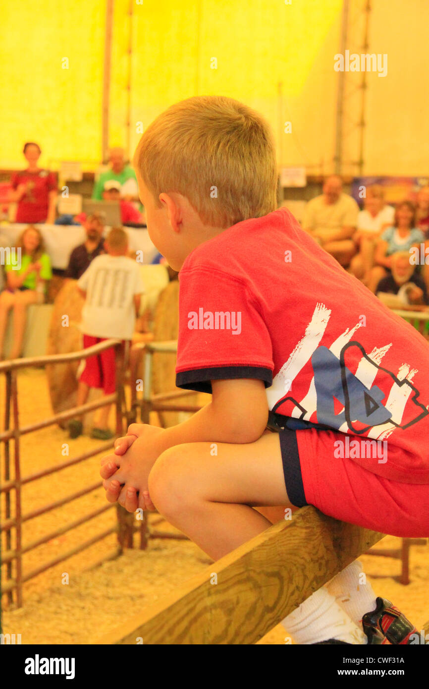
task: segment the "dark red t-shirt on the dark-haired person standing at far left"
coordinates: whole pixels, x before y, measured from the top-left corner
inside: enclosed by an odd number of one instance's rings
[[[28,189],[17,207],[17,223],[45,223],[48,216],[49,192],[57,188],[56,177],[49,170],[14,172],[10,178],[12,189],[27,184]]]

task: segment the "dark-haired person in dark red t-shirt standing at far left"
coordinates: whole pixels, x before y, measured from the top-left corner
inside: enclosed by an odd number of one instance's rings
[[[16,223],[48,223],[55,220],[56,177],[53,172],[38,167],[41,155],[39,144],[28,142],[23,154],[28,167],[14,172],[10,178],[13,191],[10,200],[18,204]]]

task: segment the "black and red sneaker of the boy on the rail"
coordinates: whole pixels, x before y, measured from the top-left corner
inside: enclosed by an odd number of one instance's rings
[[[415,626],[387,598],[377,597],[375,602],[375,610],[362,617],[368,644],[410,644],[410,636],[417,634]]]

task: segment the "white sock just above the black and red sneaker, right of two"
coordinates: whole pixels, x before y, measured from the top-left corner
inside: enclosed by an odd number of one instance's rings
[[[336,577],[331,579],[326,588],[345,610],[347,615],[362,628],[362,617],[375,610],[377,603],[375,593],[362,568],[362,562],[355,560]]]

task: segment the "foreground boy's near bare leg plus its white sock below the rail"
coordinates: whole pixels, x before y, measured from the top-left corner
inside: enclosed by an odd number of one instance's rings
[[[294,506],[284,486],[277,433],[264,433],[251,444],[218,443],[216,456],[211,456],[211,448],[197,442],[162,453],[149,474],[149,493],[170,524],[216,560],[278,522],[285,507]],[[258,511],[251,507],[261,502],[266,506]],[[365,643],[362,628],[325,587],[282,624],[297,644],[331,638]]]

